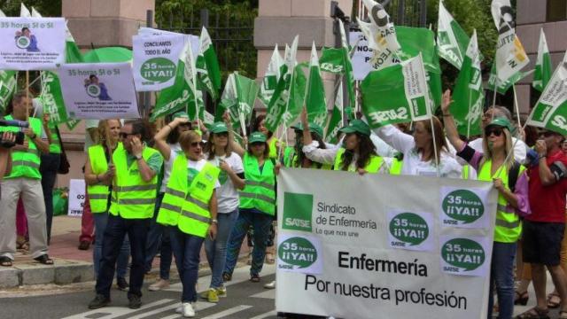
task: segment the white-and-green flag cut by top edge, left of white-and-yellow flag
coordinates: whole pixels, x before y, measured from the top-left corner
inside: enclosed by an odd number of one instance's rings
[[[461,69],[469,41],[469,35],[453,19],[451,13],[443,5],[443,1],[439,0],[439,19],[437,23],[439,57],[445,58],[454,67]]]

